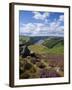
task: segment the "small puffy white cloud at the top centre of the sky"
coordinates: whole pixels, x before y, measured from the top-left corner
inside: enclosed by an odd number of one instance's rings
[[[34,14],[33,18],[38,20],[46,20],[46,18],[48,18],[50,15],[50,13],[48,12],[45,13],[33,12],[33,14]]]

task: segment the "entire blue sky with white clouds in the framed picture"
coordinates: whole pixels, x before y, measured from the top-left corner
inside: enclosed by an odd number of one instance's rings
[[[64,36],[64,13],[19,11],[20,35]]]

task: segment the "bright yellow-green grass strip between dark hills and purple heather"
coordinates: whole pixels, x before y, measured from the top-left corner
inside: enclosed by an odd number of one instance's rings
[[[63,54],[64,53],[64,47],[60,46],[60,47],[53,47],[53,48],[47,48],[43,45],[30,45],[29,49],[35,53],[38,54]]]

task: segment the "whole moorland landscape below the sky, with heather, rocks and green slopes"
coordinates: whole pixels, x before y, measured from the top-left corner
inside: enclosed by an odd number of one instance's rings
[[[23,53],[19,56],[20,79],[64,76],[63,37],[20,36],[19,42],[19,50]],[[24,46],[27,46],[26,50]],[[27,50],[30,53],[24,57]]]

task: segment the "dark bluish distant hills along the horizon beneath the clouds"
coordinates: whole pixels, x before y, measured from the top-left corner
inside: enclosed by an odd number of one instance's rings
[[[42,44],[46,46],[47,42],[52,43],[58,40],[63,40],[63,37],[55,37],[55,36],[34,36],[34,37],[28,37],[28,36],[20,36],[19,38],[20,44]]]

